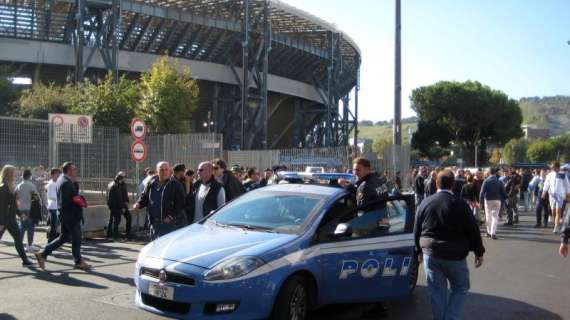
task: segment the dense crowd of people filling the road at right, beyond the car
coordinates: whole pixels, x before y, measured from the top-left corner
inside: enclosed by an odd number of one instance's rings
[[[435,180],[442,170],[428,174],[427,167],[419,167],[412,171],[410,184],[417,206],[437,191]],[[570,193],[570,172],[561,170],[560,163],[552,163],[549,169],[456,169],[454,174],[452,192],[467,201],[492,239],[498,239],[500,220],[506,218],[504,226],[519,223],[519,210],[536,214],[535,228],[553,227],[553,233],[560,233],[565,198]]]

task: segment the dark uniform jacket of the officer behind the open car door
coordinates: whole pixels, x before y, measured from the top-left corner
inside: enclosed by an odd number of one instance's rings
[[[374,211],[386,207],[388,199],[388,186],[385,177],[379,177],[372,172],[358,180],[355,185],[350,185],[347,190],[355,195],[358,210]]]

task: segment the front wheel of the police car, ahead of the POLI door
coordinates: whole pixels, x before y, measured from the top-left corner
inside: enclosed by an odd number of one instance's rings
[[[306,320],[311,311],[311,292],[301,276],[289,278],[277,295],[270,320]]]

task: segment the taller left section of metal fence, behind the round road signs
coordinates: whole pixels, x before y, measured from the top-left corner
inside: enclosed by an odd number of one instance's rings
[[[14,165],[21,175],[26,168],[74,162],[79,167],[82,193],[90,204],[97,205],[105,203],[107,186],[119,171],[127,173],[134,197],[137,168],[140,173],[159,161],[195,168],[201,161],[222,156],[222,136],[218,134],[155,134],[145,138],[148,156],[137,166],[130,156],[132,141],[117,128],[55,126],[46,120],[0,117],[0,166]]]

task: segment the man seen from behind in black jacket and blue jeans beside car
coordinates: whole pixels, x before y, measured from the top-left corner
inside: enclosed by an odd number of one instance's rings
[[[483,264],[485,248],[479,226],[463,199],[451,188],[454,176],[444,170],[437,177],[438,192],[418,208],[414,240],[418,260],[424,262],[434,319],[460,319],[469,290],[465,258],[475,252],[475,267]],[[451,292],[448,292],[449,281]]]

